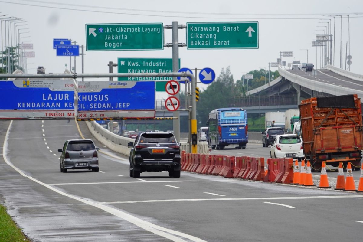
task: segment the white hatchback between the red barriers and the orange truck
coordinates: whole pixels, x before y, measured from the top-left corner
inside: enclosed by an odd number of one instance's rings
[[[304,158],[301,138],[296,134],[277,135],[270,150],[271,158]]]

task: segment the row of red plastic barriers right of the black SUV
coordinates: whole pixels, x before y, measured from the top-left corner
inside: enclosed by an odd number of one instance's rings
[[[205,175],[290,184],[294,178],[292,158],[192,154],[181,152],[181,170]]]

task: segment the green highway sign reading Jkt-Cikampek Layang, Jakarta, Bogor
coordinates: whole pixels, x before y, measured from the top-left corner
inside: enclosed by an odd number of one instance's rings
[[[86,24],[86,50],[163,50],[163,23]]]

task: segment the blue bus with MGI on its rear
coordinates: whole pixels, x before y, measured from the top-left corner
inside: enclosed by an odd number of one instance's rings
[[[209,113],[208,141],[212,149],[237,144],[245,149],[248,143],[247,112],[242,108],[218,108]]]

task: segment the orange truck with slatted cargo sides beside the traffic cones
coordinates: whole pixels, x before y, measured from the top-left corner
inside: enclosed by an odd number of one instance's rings
[[[321,171],[323,161],[335,167],[350,162],[360,169],[362,108],[356,94],[305,99],[299,114],[303,151],[312,171]]]

